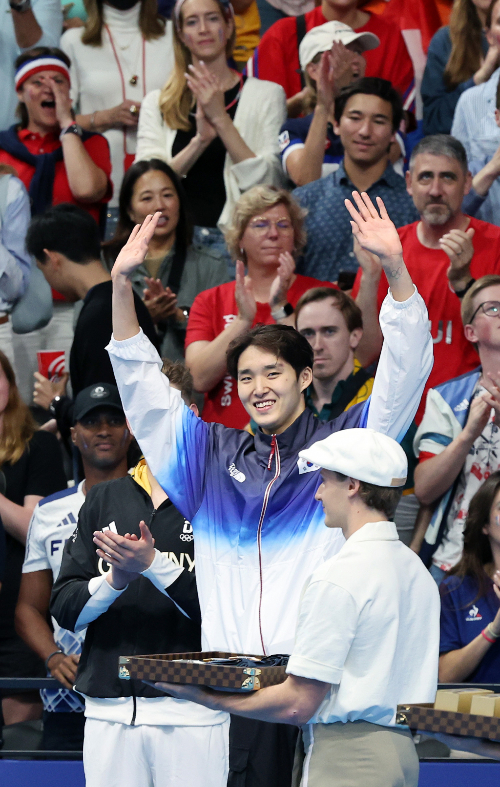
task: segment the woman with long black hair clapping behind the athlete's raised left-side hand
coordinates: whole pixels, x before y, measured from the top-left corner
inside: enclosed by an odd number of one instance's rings
[[[184,357],[187,318],[195,297],[226,282],[227,265],[215,249],[193,245],[179,177],[165,162],[151,159],[133,164],[123,178],[116,232],[103,244],[110,268],[134,225],[156,211],[162,215],[146,259],[131,278],[161,335],[162,356],[177,360]]]

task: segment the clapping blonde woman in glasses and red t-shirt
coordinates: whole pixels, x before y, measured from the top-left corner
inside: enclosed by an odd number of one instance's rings
[[[205,421],[237,429],[249,421],[226,368],[231,341],[257,323],[293,325],[295,305],[311,287],[337,289],[294,272],[294,258],[306,241],[303,223],[304,212],[293,197],[272,186],[255,186],[236,203],[226,231],[236,281],[195,298],[186,333],[186,363],[195,388],[205,392]]]

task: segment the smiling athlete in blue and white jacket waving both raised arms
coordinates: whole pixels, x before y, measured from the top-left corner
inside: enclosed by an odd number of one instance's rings
[[[161,360],[134,312],[129,275],[144,259],[158,214],[134,230],[113,268],[108,351],[148,464],[193,525],[207,650],[290,652],[301,589],[342,540],[324,528],[322,507],[314,500],[318,467],[299,459],[298,451],[319,437],[359,425],[402,438],[432,365],[426,309],[406,271],[396,229],[382,200],[377,210],[368,195],[353,196],[357,209],[346,202],[353,233],[380,256],[391,280],[392,294],[381,315],[386,345],[372,402],[326,424],[305,407],[304,390],[312,379],[310,345],[283,325],[257,327],[229,349],[229,368],[238,375],[238,393],[259,426],[257,434],[194,418],[161,374]],[[267,334],[269,342],[263,340]],[[255,764],[254,757],[276,745],[270,757],[274,773],[264,768],[256,783],[288,784],[293,748],[278,742],[283,735],[293,742],[293,730],[268,726],[259,738],[258,727],[238,732],[238,726],[232,733],[239,761],[230,762],[230,768],[241,769],[245,758]]]

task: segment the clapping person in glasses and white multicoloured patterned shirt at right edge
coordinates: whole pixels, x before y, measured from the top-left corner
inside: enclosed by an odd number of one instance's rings
[[[480,366],[429,390],[414,441],[415,494],[435,509],[420,554],[437,582],[462,558],[469,503],[500,469],[500,276],[472,284],[462,322]]]

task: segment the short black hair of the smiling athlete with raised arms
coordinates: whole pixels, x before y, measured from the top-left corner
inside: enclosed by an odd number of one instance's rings
[[[293,366],[297,379],[303,369],[312,369],[314,353],[311,345],[291,325],[256,325],[248,333],[233,339],[227,348],[227,369],[238,379],[238,361],[248,347],[274,353]]]

